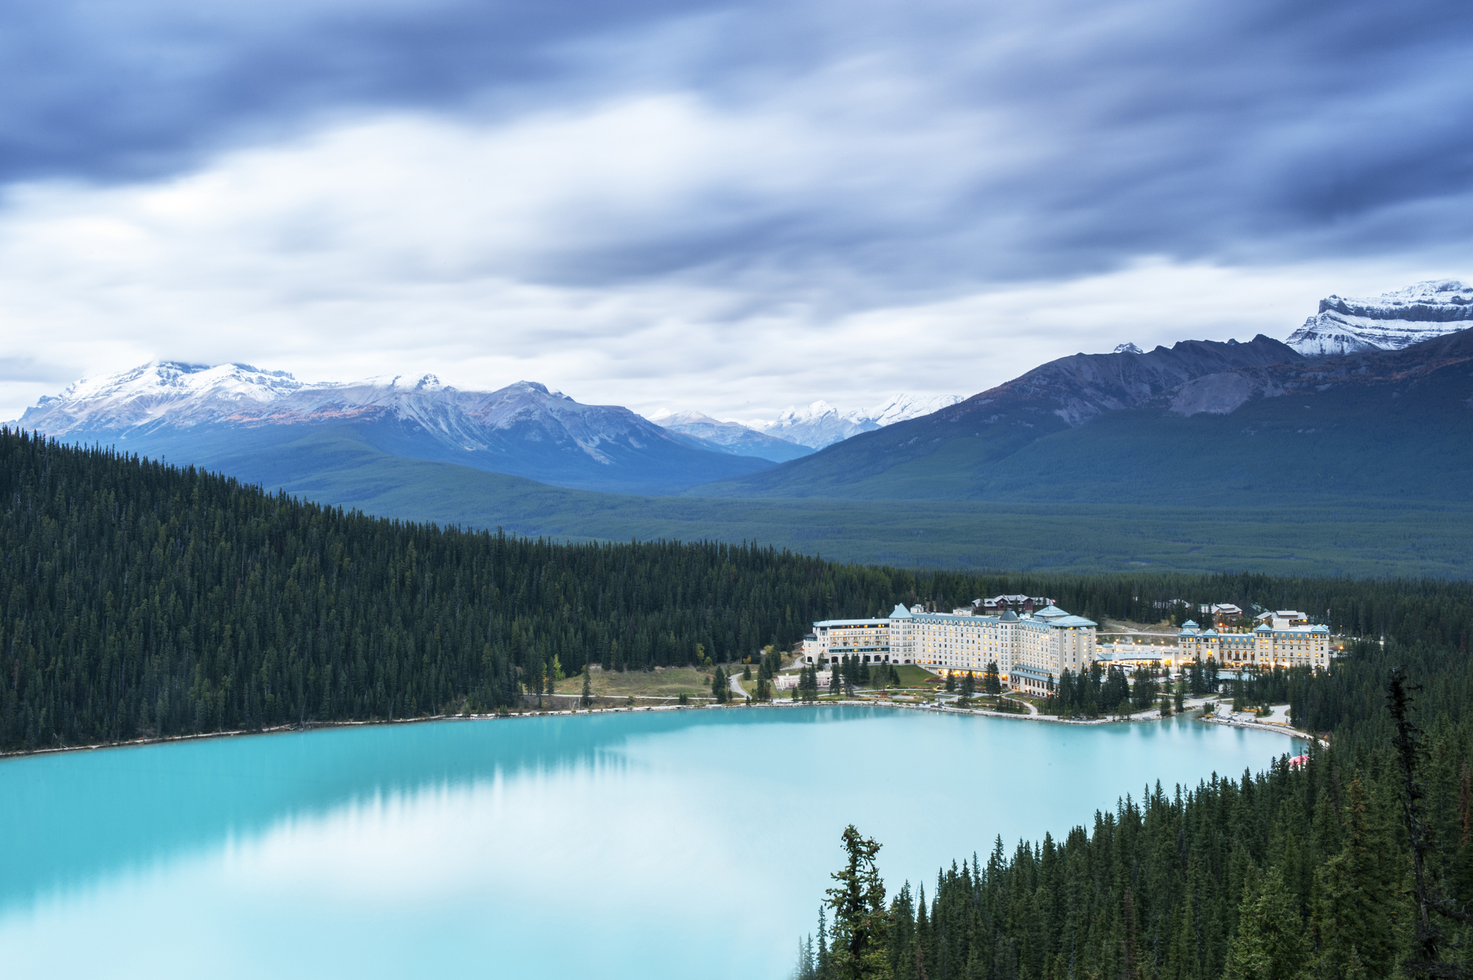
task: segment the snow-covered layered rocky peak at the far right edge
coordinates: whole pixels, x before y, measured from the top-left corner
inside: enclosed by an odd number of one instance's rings
[[[1307,357],[1360,351],[1399,351],[1421,340],[1473,327],[1473,286],[1438,279],[1371,299],[1326,296],[1320,312],[1289,335]]]

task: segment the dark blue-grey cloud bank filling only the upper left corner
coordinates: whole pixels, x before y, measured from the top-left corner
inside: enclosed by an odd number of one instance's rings
[[[560,44],[630,31],[676,0],[262,0],[9,4],[0,178],[137,177],[321,113],[454,109],[569,81]]]

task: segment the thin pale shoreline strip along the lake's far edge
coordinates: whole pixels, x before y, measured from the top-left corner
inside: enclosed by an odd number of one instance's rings
[[[18,752],[0,752],[0,762],[6,759],[25,759],[31,756],[46,756],[46,755],[60,755],[69,752],[100,752],[106,749],[138,749],[143,746],[164,746],[178,741],[199,741],[205,738],[240,738],[249,735],[281,735],[289,732],[308,732],[321,731],[328,728],[356,728],[368,725],[421,725],[424,722],[448,722],[448,721],[513,721],[518,718],[551,718],[551,716],[580,716],[580,715],[619,715],[630,712],[700,712],[700,710],[738,710],[750,707],[832,707],[832,706],[859,706],[859,707],[894,707],[912,712],[934,712],[937,715],[977,715],[982,718],[1009,718],[1016,721],[1036,721],[1036,722],[1052,722],[1055,725],[1121,725],[1131,722],[1159,722],[1165,721],[1159,712],[1142,713],[1142,715],[1127,715],[1124,718],[1059,718],[1056,715],[1041,715],[1028,713],[1018,715],[1012,712],[990,712],[981,707],[949,707],[935,704],[906,704],[903,701],[884,701],[884,700],[844,700],[844,701],[767,701],[764,704],[644,704],[644,706],[620,706],[620,707],[586,707],[576,709],[572,712],[563,710],[527,710],[517,713],[492,713],[492,715],[429,715],[424,718],[395,718],[395,719],[373,719],[373,721],[340,721],[340,722],[309,722],[306,725],[274,725],[271,728],[255,728],[255,729],[234,729],[234,731],[206,731],[196,732],[191,735],[159,735],[155,738],[130,738],[127,741],[103,741],[88,746],[56,746],[50,749],[22,749]],[[1186,715],[1187,712],[1183,712]],[[1262,722],[1248,722],[1234,721],[1228,718],[1218,718],[1214,715],[1198,715],[1196,721],[1208,722],[1212,725],[1228,725],[1233,728],[1254,728],[1258,731],[1271,731],[1280,735],[1289,735],[1290,738],[1304,738],[1312,741],[1315,746],[1327,744],[1317,735],[1299,731],[1298,728],[1289,728],[1286,725],[1267,725]]]

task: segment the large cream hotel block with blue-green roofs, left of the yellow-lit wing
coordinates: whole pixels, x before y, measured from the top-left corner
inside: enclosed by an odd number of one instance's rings
[[[916,663],[937,673],[981,675],[997,663],[1003,684],[1043,694],[1065,669],[1089,671],[1094,662],[1093,620],[1049,604],[1019,616],[978,616],[971,609],[928,613],[896,606],[890,616],[825,619],[803,641],[812,665],[859,657],[860,663]]]

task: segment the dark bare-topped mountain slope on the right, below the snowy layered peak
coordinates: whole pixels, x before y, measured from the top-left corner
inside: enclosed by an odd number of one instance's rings
[[[1304,358],[1267,337],[1077,355],[934,416],[691,494],[1214,505],[1332,497],[1467,501],[1470,399],[1469,330],[1342,358]]]

